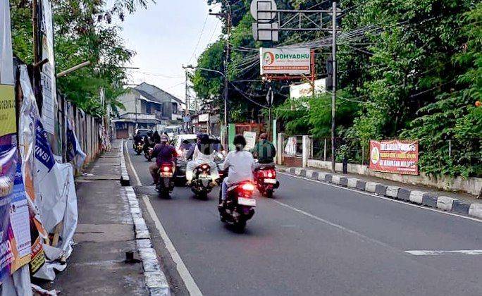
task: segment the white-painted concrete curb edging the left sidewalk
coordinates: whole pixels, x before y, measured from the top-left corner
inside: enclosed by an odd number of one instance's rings
[[[122,145],[124,147],[124,143]],[[146,221],[142,218],[142,211],[139,206],[139,200],[135,195],[134,188],[130,186],[130,178],[125,166],[124,149],[121,149],[121,183],[125,190],[125,195],[128,198],[130,207],[130,215],[134,222],[135,244],[137,252],[139,252],[142,260],[142,268],[144,269],[144,279],[146,282],[149,295],[152,296],[170,296],[171,288],[169,288],[166,275],[163,273],[157,254],[154,247],[152,247],[151,235],[149,228],[147,228]],[[125,175],[126,176],[125,176]],[[124,182],[124,183],[123,183]],[[124,185],[128,184],[128,185]]]

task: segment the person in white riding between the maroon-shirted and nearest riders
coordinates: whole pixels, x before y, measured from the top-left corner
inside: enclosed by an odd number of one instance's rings
[[[192,153],[192,161],[187,163],[186,166],[186,185],[192,183],[194,176],[194,169],[202,164],[208,164],[211,168],[211,185],[216,186],[216,180],[219,178],[218,166],[214,162],[216,156],[214,145],[210,143],[209,135],[202,134],[197,137],[197,144],[194,147]]]

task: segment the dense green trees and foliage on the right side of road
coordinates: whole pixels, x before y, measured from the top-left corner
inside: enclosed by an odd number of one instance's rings
[[[225,0],[211,0],[223,4]],[[278,8],[330,8],[330,1],[276,1]],[[259,79],[259,67],[247,68],[257,54],[249,49],[319,40],[317,72],[323,75],[329,35],[283,32],[278,44],[254,42],[250,1],[230,1],[234,29],[230,44],[231,79]],[[420,142],[420,168],[426,173],[482,175],[482,4],[474,0],[342,0],[338,22],[338,137],[407,138]],[[216,43],[225,42],[220,39]],[[316,47],[316,46],[315,46]],[[208,49],[209,51],[209,49]],[[206,51],[204,54],[206,54]],[[223,55],[223,51],[218,51]],[[204,56],[204,55],[203,55]],[[200,60],[203,58],[200,58]],[[210,66],[223,67],[219,63]],[[241,69],[241,70],[237,70]],[[244,70],[243,70],[244,69]],[[207,78],[206,78],[207,79]],[[195,87],[206,81],[194,82]],[[326,137],[330,99],[286,100],[283,83],[276,90],[276,113],[290,134]],[[283,88],[282,88],[283,87]],[[266,86],[244,83],[238,88],[266,104]],[[232,91],[231,91],[232,92]],[[222,94],[222,86],[211,97]],[[259,95],[259,97],[256,97]],[[242,97],[257,112],[256,104]],[[308,108],[309,106],[309,108]],[[255,118],[253,118],[255,119]],[[359,144],[359,143],[358,143]],[[449,155],[449,145],[450,152]]]

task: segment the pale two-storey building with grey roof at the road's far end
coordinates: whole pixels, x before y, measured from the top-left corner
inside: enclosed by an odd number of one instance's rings
[[[168,125],[183,125],[183,101],[154,85],[143,82],[129,87],[118,101],[125,110],[113,120],[117,138],[132,137],[136,128],[163,130]]]

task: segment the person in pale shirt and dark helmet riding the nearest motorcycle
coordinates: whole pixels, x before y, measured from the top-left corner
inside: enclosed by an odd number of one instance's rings
[[[222,202],[219,206],[224,206],[228,188],[243,181],[253,181],[254,159],[251,153],[244,151],[246,139],[242,135],[236,135],[233,141],[236,149],[226,155],[224,170],[228,170],[228,177],[223,180],[221,187]]]

